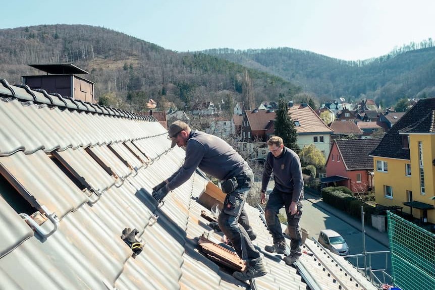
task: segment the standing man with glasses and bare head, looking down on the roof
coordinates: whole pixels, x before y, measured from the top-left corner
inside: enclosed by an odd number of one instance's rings
[[[285,206],[289,223],[290,256],[285,257],[286,264],[291,265],[301,256],[302,243],[299,232],[299,219],[302,215],[302,199],[304,197],[304,180],[299,156],[283,144],[283,139],[273,136],[267,141],[269,153],[264,163],[263,179],[261,182],[261,203],[265,203],[265,192],[270,175],[274,173],[275,187],[270,193],[264,210],[267,226],[274,245],[265,246],[270,253],[285,254],[286,242],[281,228],[278,213]]]

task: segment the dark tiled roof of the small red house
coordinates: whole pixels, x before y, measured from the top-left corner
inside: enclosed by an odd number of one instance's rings
[[[382,139],[337,139],[335,143],[347,170],[373,169],[373,157],[370,157],[369,154],[376,148],[380,140]]]

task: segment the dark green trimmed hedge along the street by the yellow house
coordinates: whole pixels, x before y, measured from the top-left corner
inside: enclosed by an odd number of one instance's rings
[[[371,224],[371,215],[375,213],[374,207],[349,194],[343,193],[342,188],[343,187],[324,188],[322,190],[323,201],[359,219],[361,218],[361,206],[363,206],[365,212],[364,220]]]

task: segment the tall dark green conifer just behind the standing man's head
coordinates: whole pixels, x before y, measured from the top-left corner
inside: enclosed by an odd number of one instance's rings
[[[284,145],[296,153],[298,153],[299,147],[296,144],[298,135],[295,129],[295,123],[293,122],[287,108],[287,102],[284,98],[280,98],[278,109],[275,115],[275,135],[283,138]]]

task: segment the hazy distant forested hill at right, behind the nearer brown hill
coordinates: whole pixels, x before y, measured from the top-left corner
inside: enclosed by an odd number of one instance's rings
[[[321,100],[365,96],[390,105],[403,97],[435,96],[435,47],[430,38],[362,62],[293,48],[202,52],[291,80]]]

